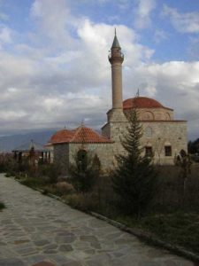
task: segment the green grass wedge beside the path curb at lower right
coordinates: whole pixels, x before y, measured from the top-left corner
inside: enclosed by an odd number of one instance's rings
[[[146,231],[175,246],[185,247],[199,255],[199,214],[172,213],[147,215],[141,219],[118,216],[115,220],[128,227]]]

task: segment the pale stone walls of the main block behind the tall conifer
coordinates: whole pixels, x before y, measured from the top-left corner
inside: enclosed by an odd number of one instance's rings
[[[154,163],[165,165],[174,164],[181,150],[187,152],[187,123],[186,121],[141,121],[142,155],[145,155],[145,147],[151,147]],[[103,127],[103,134],[110,134],[114,140],[113,154],[109,158],[112,160],[110,165],[115,165],[114,154],[124,153],[120,139],[126,135],[128,122],[109,122]],[[171,156],[165,156],[165,146],[171,146]],[[108,158],[107,158],[108,160]]]

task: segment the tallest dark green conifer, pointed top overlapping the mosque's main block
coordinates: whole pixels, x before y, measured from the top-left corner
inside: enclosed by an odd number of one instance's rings
[[[142,156],[142,125],[136,109],[128,119],[126,136],[121,139],[125,154],[117,156],[118,167],[112,173],[112,183],[122,211],[139,217],[156,192],[157,172],[151,158]]]

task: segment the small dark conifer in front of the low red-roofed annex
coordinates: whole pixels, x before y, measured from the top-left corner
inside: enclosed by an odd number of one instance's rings
[[[76,153],[74,163],[69,168],[74,189],[83,194],[90,192],[100,175],[100,169],[101,163],[97,155],[92,157],[85,150]]]

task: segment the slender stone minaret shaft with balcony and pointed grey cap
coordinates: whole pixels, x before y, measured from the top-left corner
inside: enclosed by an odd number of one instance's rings
[[[109,56],[111,63],[111,77],[112,77],[112,109],[122,109],[122,63],[124,55],[121,52],[119,40],[116,35],[111,46],[111,54]]]

